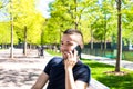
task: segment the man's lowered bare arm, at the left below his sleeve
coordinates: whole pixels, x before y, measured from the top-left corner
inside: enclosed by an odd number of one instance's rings
[[[49,76],[45,72],[42,72],[31,89],[42,89],[43,86],[47,83],[48,79]]]

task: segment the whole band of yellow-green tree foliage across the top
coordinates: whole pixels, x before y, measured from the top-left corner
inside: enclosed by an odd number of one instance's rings
[[[68,28],[78,28],[83,32],[84,43],[91,41],[116,42],[117,12],[116,0],[55,0],[49,4],[51,17],[47,19],[37,11],[38,0],[12,0],[6,7],[13,13],[14,32],[19,42],[24,40],[27,27],[28,43],[60,43],[62,31]],[[122,0],[122,36],[123,40],[133,41],[133,2]],[[0,3],[0,6],[2,6]],[[7,17],[8,18],[8,17]],[[10,33],[10,32],[9,32]],[[35,36],[35,37],[34,37]],[[112,39],[112,37],[114,37]]]

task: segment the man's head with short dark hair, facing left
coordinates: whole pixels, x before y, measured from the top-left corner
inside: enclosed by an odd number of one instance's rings
[[[72,51],[78,44],[83,48],[83,36],[81,31],[74,29],[68,29],[63,32],[61,39],[61,52]],[[65,55],[63,58],[66,58]]]

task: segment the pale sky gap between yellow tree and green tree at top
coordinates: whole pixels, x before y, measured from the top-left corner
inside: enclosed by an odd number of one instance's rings
[[[45,17],[45,18],[50,17],[48,9],[49,9],[49,3],[52,1],[54,1],[54,0],[40,0],[39,6],[37,7],[37,9],[39,9],[39,11],[41,11],[43,17]]]

